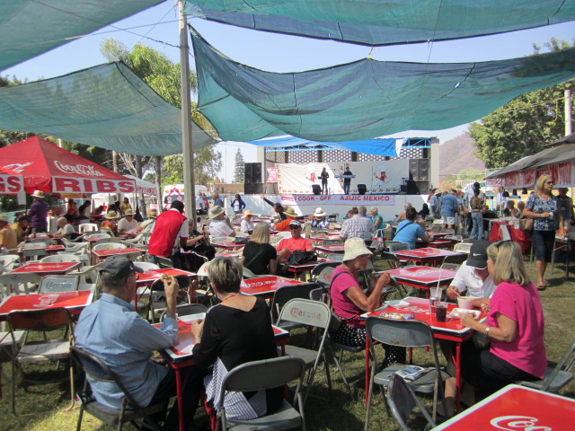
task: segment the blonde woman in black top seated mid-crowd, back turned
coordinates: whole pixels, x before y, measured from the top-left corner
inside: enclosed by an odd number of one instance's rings
[[[270,244],[270,224],[261,222],[255,225],[252,239],[243,247],[243,268],[253,274],[275,274],[278,251]]]

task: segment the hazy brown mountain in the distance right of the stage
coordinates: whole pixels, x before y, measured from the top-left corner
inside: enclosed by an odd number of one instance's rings
[[[469,169],[484,171],[485,163],[473,155],[475,152],[473,138],[467,132],[440,144],[439,176],[441,180],[447,175],[454,175]]]

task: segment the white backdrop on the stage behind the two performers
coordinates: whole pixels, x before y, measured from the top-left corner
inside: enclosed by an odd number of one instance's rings
[[[346,164],[349,164],[349,171],[356,176],[351,179],[350,194],[358,193],[358,184],[365,184],[367,193],[399,193],[403,180],[408,180],[410,176],[408,159],[349,163],[284,163],[277,165],[279,193],[311,193],[312,185],[321,186],[320,175],[325,168],[330,174],[327,180],[330,194],[343,194],[343,179],[335,176],[343,174]]]

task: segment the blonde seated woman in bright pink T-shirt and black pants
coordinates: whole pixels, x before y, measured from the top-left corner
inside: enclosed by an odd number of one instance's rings
[[[464,343],[462,400],[469,405],[509,383],[543,379],[547,366],[541,299],[527,277],[521,249],[516,242],[497,242],[490,245],[487,255],[487,268],[498,285],[487,320],[480,323],[467,314],[461,320],[464,326],[491,340],[489,350],[480,350],[473,342]],[[452,377],[446,382],[451,413],[455,395]]]

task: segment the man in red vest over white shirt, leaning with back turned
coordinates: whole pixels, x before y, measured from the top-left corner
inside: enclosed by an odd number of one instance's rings
[[[147,247],[148,260],[157,264],[155,257],[160,256],[173,261],[173,255],[186,246],[189,234],[188,219],[183,215],[183,203],[174,200],[170,209],[155,220]]]

